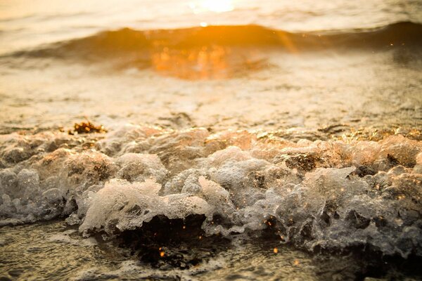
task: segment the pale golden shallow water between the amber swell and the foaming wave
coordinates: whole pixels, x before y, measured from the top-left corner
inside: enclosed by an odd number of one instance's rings
[[[315,131],[331,125],[344,125],[345,131],[417,129],[422,118],[421,61],[412,56],[402,63],[396,52],[255,51],[257,60],[250,69],[235,60],[203,71],[186,66],[184,72],[172,68],[172,60],[155,70],[18,60],[20,65],[4,65],[0,76],[1,131],[68,127],[84,116],[109,128],[134,122],[215,131]]]

